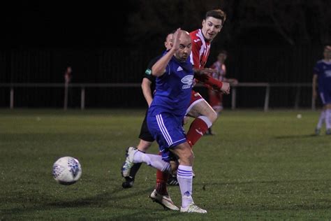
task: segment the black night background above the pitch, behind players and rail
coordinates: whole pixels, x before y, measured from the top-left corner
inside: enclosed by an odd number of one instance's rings
[[[331,43],[330,6],[326,0],[1,3],[0,83],[63,83],[68,65],[73,83],[140,83],[149,59],[162,52],[165,35],[177,27],[200,28],[205,12],[214,8],[222,8],[228,18],[212,42],[208,64],[226,49],[228,77],[240,82],[309,83],[323,45]],[[260,96],[258,89],[240,90],[252,94],[249,99]],[[61,106],[61,93],[19,88],[15,106]],[[89,106],[145,105],[139,88],[87,93]],[[118,98],[129,93],[134,101]],[[291,105],[291,89],[273,93],[285,98],[274,106]],[[8,106],[8,88],[0,87],[0,94],[0,106]],[[72,106],[79,106],[79,90],[71,94]],[[247,98],[238,99],[249,106]],[[309,99],[302,102],[309,106]]]

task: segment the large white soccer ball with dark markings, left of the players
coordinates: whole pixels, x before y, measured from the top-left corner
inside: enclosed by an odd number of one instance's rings
[[[53,178],[59,184],[71,185],[82,176],[82,168],[78,159],[73,157],[61,157],[53,164]]]

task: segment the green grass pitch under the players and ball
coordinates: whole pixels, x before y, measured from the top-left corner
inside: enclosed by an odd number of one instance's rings
[[[205,215],[153,203],[156,171],[145,165],[122,189],[124,152],[138,143],[144,111],[0,110],[0,220],[331,219],[331,136],[312,136],[318,111],[223,112],[216,136],[193,148],[193,199]],[[63,156],[82,164],[71,186],[51,175]],[[180,206],[179,187],[168,189]]]

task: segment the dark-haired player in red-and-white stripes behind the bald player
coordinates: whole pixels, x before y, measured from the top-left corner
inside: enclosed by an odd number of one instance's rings
[[[213,73],[212,69],[205,69],[205,64],[210,51],[210,43],[216,37],[217,34],[221,31],[223,23],[226,20],[226,13],[222,10],[209,10],[206,13],[205,19],[203,20],[203,27],[192,31],[190,33],[191,43],[192,43],[192,52],[191,52],[191,63],[195,69],[195,78],[199,80],[198,73]],[[201,79],[205,85],[213,85],[216,83],[212,76],[208,76],[208,79]],[[209,84],[211,83],[211,84]],[[228,83],[223,83],[219,85],[221,90],[227,94],[230,91],[230,85]],[[211,106],[201,97],[198,92],[192,90],[191,93],[191,102],[189,108],[186,111],[186,115],[194,117],[195,120],[190,125],[190,129],[186,134],[186,141],[193,145],[206,133],[209,127],[212,126],[213,122],[217,119],[217,114]],[[156,172],[156,194],[160,196],[166,191],[166,182],[170,184],[177,183],[175,177],[168,178],[168,174],[165,174],[161,171]],[[154,192],[153,192],[154,193]]]

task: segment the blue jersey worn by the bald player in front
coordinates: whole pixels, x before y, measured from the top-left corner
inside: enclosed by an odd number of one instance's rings
[[[157,115],[168,112],[182,118],[191,100],[193,83],[193,66],[190,59],[179,62],[175,57],[170,59],[165,73],[156,78],[156,92],[149,113]]]

